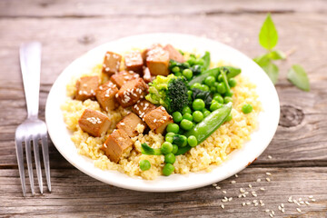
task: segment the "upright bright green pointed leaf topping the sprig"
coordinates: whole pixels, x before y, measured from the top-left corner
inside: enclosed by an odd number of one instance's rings
[[[270,14],[267,15],[259,34],[259,42],[264,48],[271,50],[278,42],[277,30]]]

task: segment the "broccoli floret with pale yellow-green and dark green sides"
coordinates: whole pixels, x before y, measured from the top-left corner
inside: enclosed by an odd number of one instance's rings
[[[149,94],[145,99],[153,104],[161,104],[168,113],[181,111],[189,104],[186,79],[183,76],[158,75],[150,84]]]

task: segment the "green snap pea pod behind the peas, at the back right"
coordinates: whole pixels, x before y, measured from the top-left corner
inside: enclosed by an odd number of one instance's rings
[[[212,75],[212,76],[214,76],[214,78],[217,78],[217,75],[220,73],[220,70],[223,67],[228,70],[228,72],[227,72],[227,78],[228,79],[230,79],[230,78],[232,78],[232,77],[234,77],[234,76],[236,76],[238,74],[241,74],[241,69],[240,68],[236,68],[236,67],[233,67],[233,66],[221,66],[221,67],[216,67],[216,68],[213,68],[213,69],[210,69],[210,70],[206,70],[202,74],[193,76],[192,80],[190,82],[188,82],[188,84],[190,86],[192,84],[195,84],[195,83],[202,84],[204,79],[206,77],[208,77],[209,75]]]

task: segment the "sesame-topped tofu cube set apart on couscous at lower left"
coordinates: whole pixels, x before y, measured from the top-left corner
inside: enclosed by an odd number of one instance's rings
[[[94,137],[100,137],[101,134],[107,132],[110,120],[105,114],[91,109],[85,109],[81,118],[78,120],[78,124],[85,133],[91,134]]]

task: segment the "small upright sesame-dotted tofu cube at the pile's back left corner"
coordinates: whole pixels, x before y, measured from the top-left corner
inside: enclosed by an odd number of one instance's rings
[[[116,74],[119,71],[121,61],[121,54],[115,54],[109,51],[106,52],[104,55],[104,64],[102,72],[108,75]]]

